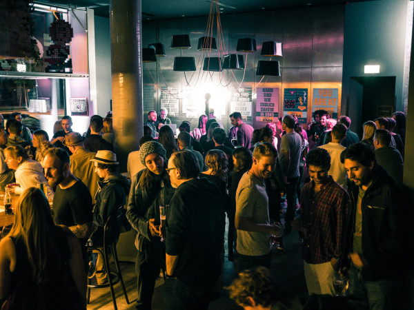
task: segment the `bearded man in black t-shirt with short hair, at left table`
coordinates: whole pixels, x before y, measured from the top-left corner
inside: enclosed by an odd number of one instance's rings
[[[88,264],[86,242],[92,227],[92,197],[88,187],[70,172],[68,153],[59,147],[46,152],[43,161],[45,176],[55,189],[53,219],[57,225],[66,225],[81,242],[83,258]]]

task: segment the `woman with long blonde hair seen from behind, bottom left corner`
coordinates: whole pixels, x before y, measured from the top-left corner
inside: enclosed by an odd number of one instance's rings
[[[40,189],[26,189],[14,212],[10,234],[0,242],[1,309],[86,309],[79,240],[53,223]]]

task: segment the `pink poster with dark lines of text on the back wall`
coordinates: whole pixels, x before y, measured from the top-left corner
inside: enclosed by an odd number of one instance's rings
[[[262,88],[257,91],[256,121],[277,123],[279,88]]]

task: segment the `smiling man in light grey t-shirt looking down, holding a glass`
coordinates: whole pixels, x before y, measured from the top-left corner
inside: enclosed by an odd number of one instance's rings
[[[236,192],[237,253],[239,269],[270,268],[270,235],[279,228],[269,224],[268,196],[264,179],[276,167],[277,151],[271,143],[257,145],[253,165],[239,182]]]

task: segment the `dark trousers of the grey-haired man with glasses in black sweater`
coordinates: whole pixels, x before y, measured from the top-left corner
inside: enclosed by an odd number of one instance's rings
[[[202,281],[202,279],[200,279]],[[166,278],[164,304],[166,310],[208,309],[212,289],[186,285],[177,278]]]

